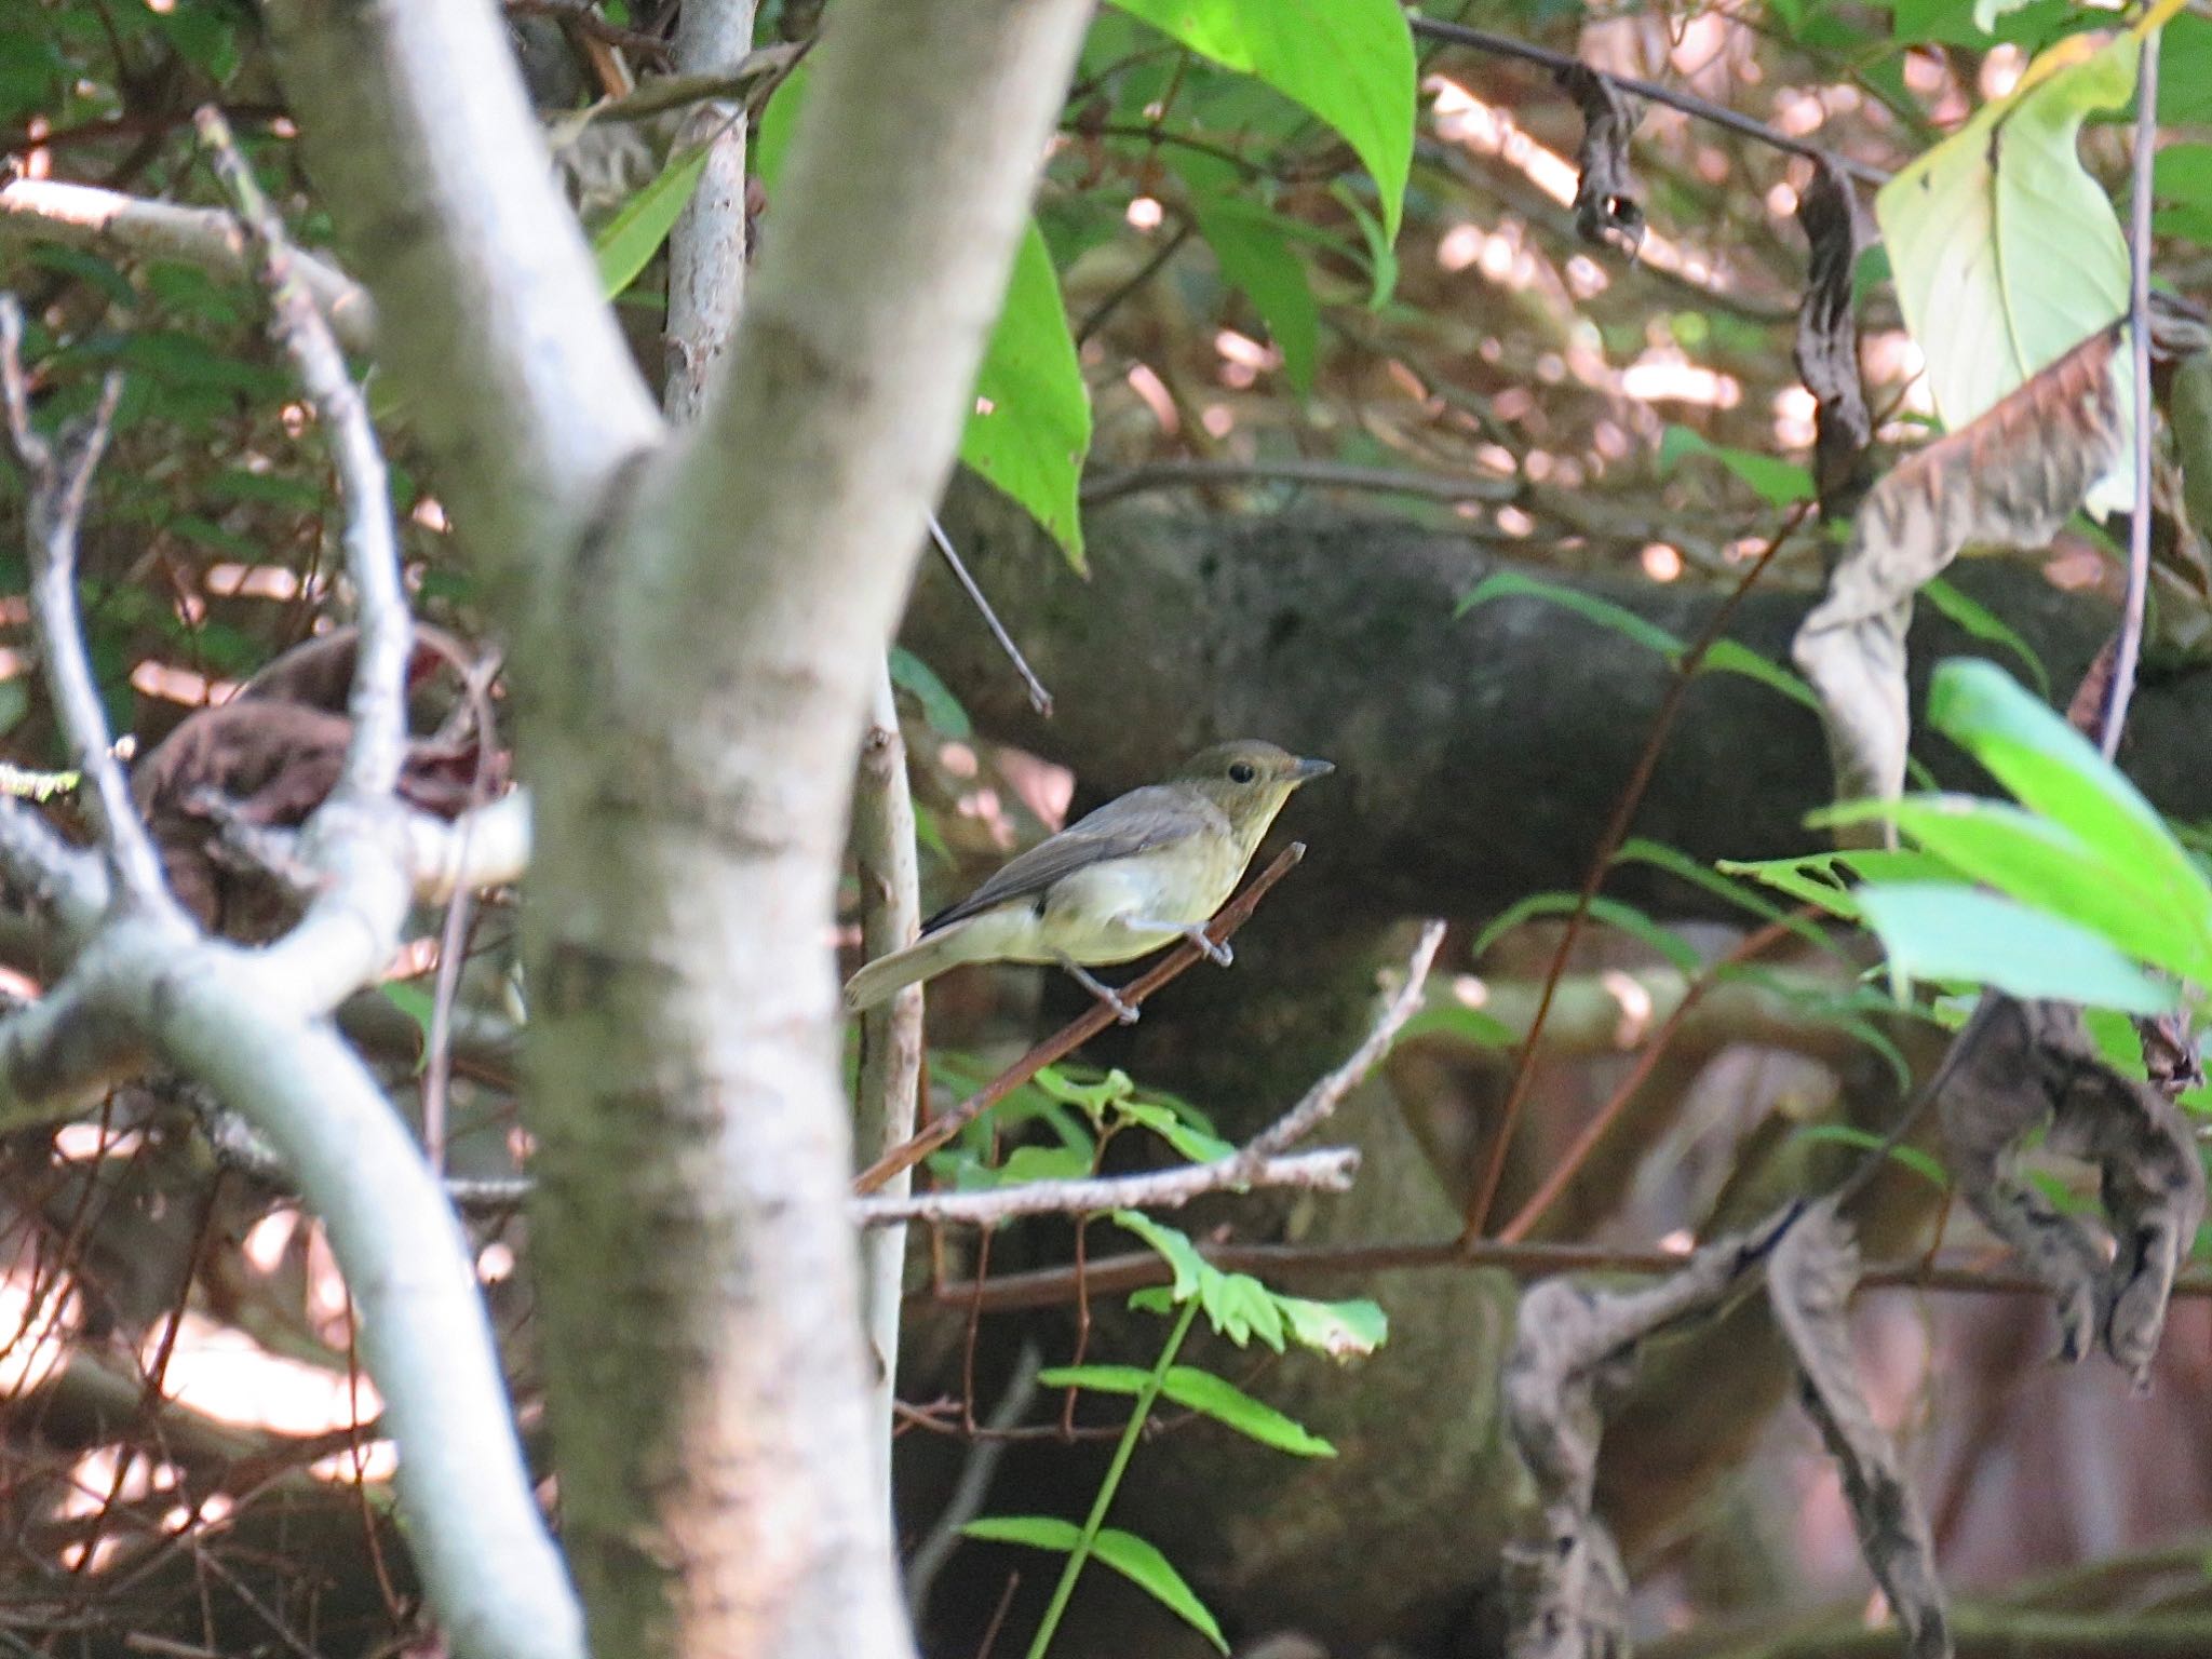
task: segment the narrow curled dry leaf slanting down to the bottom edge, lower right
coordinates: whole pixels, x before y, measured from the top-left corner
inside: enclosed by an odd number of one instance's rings
[[[1949,1659],[1951,1635],[1942,1582],[1936,1577],[1936,1544],[1851,1363],[1845,1310],[1856,1287],[1858,1243],[1836,1212],[1836,1201],[1823,1199],[1774,1248],[1767,1301],[1796,1356],[1798,1400],[1843,1475],[1858,1548],[1905,1630],[1905,1652],[1909,1659]]]

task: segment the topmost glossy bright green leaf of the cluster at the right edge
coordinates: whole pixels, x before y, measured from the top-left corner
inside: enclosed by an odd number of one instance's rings
[[[2166,821],[2086,737],[1989,661],[1953,659],[1929,688],[1929,726],[2022,805],[2066,825],[2179,922],[2212,933],[2212,887]]]

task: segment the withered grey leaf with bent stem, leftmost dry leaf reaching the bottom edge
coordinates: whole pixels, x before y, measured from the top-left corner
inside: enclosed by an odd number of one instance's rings
[[[1712,1310],[1776,1225],[1705,1245],[1644,1290],[1546,1279],[1522,1296],[1502,1391],[1540,1526],[1504,1551],[1509,1659],[1626,1659],[1628,1571],[1593,1511],[1606,1413],[1635,1378],[1637,1345]]]

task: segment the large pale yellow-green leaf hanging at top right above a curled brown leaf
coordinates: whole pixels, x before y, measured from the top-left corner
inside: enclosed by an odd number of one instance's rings
[[[2119,217],[2075,137],[2090,111],[2128,102],[2135,60],[2135,35],[2059,42],[1874,199],[1905,325],[1953,431],[2128,307]],[[2093,502],[2124,504],[2126,491],[2115,478]]]

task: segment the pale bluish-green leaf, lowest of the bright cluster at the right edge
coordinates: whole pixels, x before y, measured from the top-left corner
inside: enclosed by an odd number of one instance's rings
[[[2015,998],[2062,998],[2128,1013],[2161,1013],[2174,991],[2086,927],[1971,887],[1905,883],[1863,887],[1865,911],[1889,962],[1913,980],[1993,984]]]

